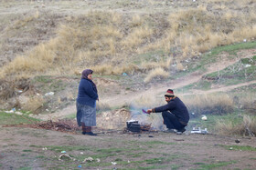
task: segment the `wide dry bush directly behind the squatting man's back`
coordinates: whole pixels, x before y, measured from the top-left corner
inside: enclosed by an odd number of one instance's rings
[[[191,96],[190,96],[191,97]],[[190,113],[196,115],[222,115],[231,113],[233,101],[226,94],[193,95],[193,98],[182,97]]]

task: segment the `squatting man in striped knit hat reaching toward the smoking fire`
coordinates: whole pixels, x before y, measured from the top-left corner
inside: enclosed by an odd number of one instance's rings
[[[168,128],[166,132],[183,133],[189,121],[187,106],[176,96],[172,89],[168,89],[165,93],[166,105],[148,109],[147,113],[162,112],[164,125]]]

